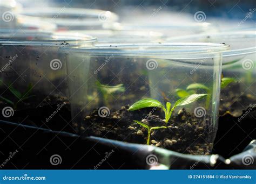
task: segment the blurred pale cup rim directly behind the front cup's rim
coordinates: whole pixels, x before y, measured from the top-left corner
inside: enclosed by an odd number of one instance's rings
[[[97,38],[97,43],[159,43],[166,39],[164,34],[154,31],[73,30],[67,32],[91,35]]]

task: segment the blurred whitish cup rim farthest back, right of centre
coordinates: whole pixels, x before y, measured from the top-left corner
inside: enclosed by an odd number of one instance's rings
[[[103,27],[105,29],[110,30],[123,30],[123,31],[155,31],[163,33],[169,37],[177,37],[184,36],[190,34],[199,34],[204,32],[214,32],[217,31],[213,25],[210,23],[166,23],[166,24],[158,24],[158,23],[109,23],[104,24]]]

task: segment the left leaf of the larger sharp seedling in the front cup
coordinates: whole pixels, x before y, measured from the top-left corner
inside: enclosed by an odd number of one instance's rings
[[[165,109],[164,106],[161,104],[161,102],[154,100],[152,98],[145,98],[143,100],[133,103],[129,108],[129,110],[133,111],[133,110],[143,109],[147,107],[160,107]]]

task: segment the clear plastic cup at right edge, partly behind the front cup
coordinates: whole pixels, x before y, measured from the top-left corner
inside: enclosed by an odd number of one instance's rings
[[[211,42],[230,45],[223,53],[220,114],[238,117],[256,104],[256,31],[222,32],[170,38],[172,42]],[[251,110],[250,110],[251,111]]]

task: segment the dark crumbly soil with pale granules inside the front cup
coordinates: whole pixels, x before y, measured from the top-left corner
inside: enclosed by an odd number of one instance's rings
[[[137,120],[143,121],[150,127],[167,126],[167,129],[152,131],[151,145],[186,154],[210,153],[212,141],[208,136],[211,132],[208,129],[207,118],[197,118],[185,109],[181,109],[178,115],[173,115],[170,122],[166,124],[161,119],[163,112],[159,109],[145,108],[128,111],[128,108],[128,105],[123,106],[122,109],[111,112],[107,117],[99,117],[98,110],[95,109],[84,118],[80,128],[82,135],[146,144],[147,130],[133,122]],[[143,120],[145,117],[146,119]],[[78,125],[74,124],[74,126]]]

